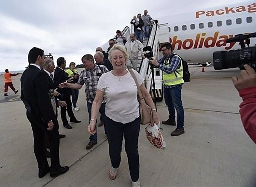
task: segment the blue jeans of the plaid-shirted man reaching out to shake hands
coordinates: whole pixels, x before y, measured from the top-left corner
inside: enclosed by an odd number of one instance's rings
[[[106,103],[101,104],[101,107],[99,108],[99,113],[101,113],[101,120],[104,123],[105,134],[106,134],[106,136],[108,136],[108,133],[107,133],[107,130],[106,130],[105,106],[106,106]],[[89,123],[90,123],[91,116],[92,116],[92,103],[87,102],[87,109],[88,109]],[[95,123],[95,130],[97,130],[97,124],[96,123]],[[95,142],[96,143],[97,139],[98,139],[97,133],[95,133],[95,134],[93,134],[89,137],[90,142]]]

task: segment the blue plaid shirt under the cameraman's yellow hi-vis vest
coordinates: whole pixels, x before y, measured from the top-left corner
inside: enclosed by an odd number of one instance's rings
[[[179,69],[180,68],[180,58],[177,56],[174,56],[172,59],[170,59],[170,56],[173,55],[173,52],[171,52],[171,54],[169,54],[167,57],[163,57],[161,59],[158,60],[158,63],[160,64],[160,66],[158,67],[160,70],[165,71],[166,73],[173,73],[174,70]],[[164,63],[167,62],[170,59],[170,64],[167,64],[167,66],[164,66]],[[165,88],[173,88],[175,86],[179,86],[181,84],[177,84],[177,85],[173,85],[173,86],[166,86],[164,85]]]

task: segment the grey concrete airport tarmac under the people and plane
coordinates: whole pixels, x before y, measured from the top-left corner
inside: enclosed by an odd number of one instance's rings
[[[139,138],[141,187],[255,187],[256,146],[246,134],[239,114],[241,98],[231,77],[239,69],[214,71],[213,67],[189,66],[190,83],[184,83],[185,134],[171,137],[174,126],[161,125],[167,143],[165,149],[152,146],[141,126]],[[81,70],[80,70],[81,71]],[[20,90],[20,77],[13,77]],[[3,76],[0,83],[4,85]],[[9,89],[8,97],[0,91],[0,186],[1,187],[131,187],[127,156],[122,151],[121,165],[115,180],[108,177],[111,166],[104,127],[98,127],[98,144],[91,150],[85,86],[79,90],[78,112],[82,123],[62,126],[59,111],[60,164],[67,173],[56,178],[47,174],[38,178],[33,153],[33,135],[20,101]],[[157,103],[160,120],[168,118],[164,101]],[[48,160],[50,163],[50,160]]]

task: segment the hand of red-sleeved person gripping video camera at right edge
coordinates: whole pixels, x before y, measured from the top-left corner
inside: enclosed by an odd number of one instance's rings
[[[232,77],[234,87],[237,90],[242,90],[245,88],[256,87],[256,73],[252,67],[245,64],[245,70],[241,70],[240,77]]]

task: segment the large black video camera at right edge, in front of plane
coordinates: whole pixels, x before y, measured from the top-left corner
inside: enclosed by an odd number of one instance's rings
[[[256,46],[249,47],[250,38],[256,37],[256,33],[237,34],[227,39],[227,43],[239,41],[241,49],[229,51],[215,51],[213,53],[213,67],[215,70],[239,67],[244,69],[244,64],[249,64],[256,71]],[[248,47],[245,47],[245,43]]]

